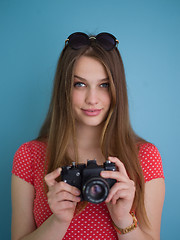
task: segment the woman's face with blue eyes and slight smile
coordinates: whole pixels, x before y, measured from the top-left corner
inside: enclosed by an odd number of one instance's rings
[[[72,105],[76,123],[99,126],[107,117],[111,103],[109,79],[96,59],[81,56],[74,69]]]

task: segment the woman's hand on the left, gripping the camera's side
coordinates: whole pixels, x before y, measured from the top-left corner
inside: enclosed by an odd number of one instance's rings
[[[61,174],[61,168],[45,176],[45,182],[49,188],[47,193],[48,203],[55,218],[59,222],[71,222],[76,205],[80,202],[78,188],[65,182],[57,182],[55,179]]]

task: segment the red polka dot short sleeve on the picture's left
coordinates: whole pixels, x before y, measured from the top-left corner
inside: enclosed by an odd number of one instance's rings
[[[14,155],[12,173],[34,185],[33,158],[29,143],[20,146]]]

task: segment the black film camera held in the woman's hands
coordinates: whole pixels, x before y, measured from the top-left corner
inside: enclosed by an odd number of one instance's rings
[[[72,166],[62,167],[61,180],[81,191],[81,201],[101,203],[106,200],[116,180],[102,178],[100,172],[115,170],[115,164],[110,161],[97,165],[96,160],[88,160],[87,165],[73,163]]]

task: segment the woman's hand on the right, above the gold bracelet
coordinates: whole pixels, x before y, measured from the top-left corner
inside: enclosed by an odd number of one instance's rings
[[[109,157],[108,160],[115,163],[117,171],[102,171],[101,176],[116,179],[117,182],[110,189],[105,202],[112,220],[115,223],[122,223],[123,219],[130,215],[136,191],[135,183],[129,178],[124,164],[118,158]]]

